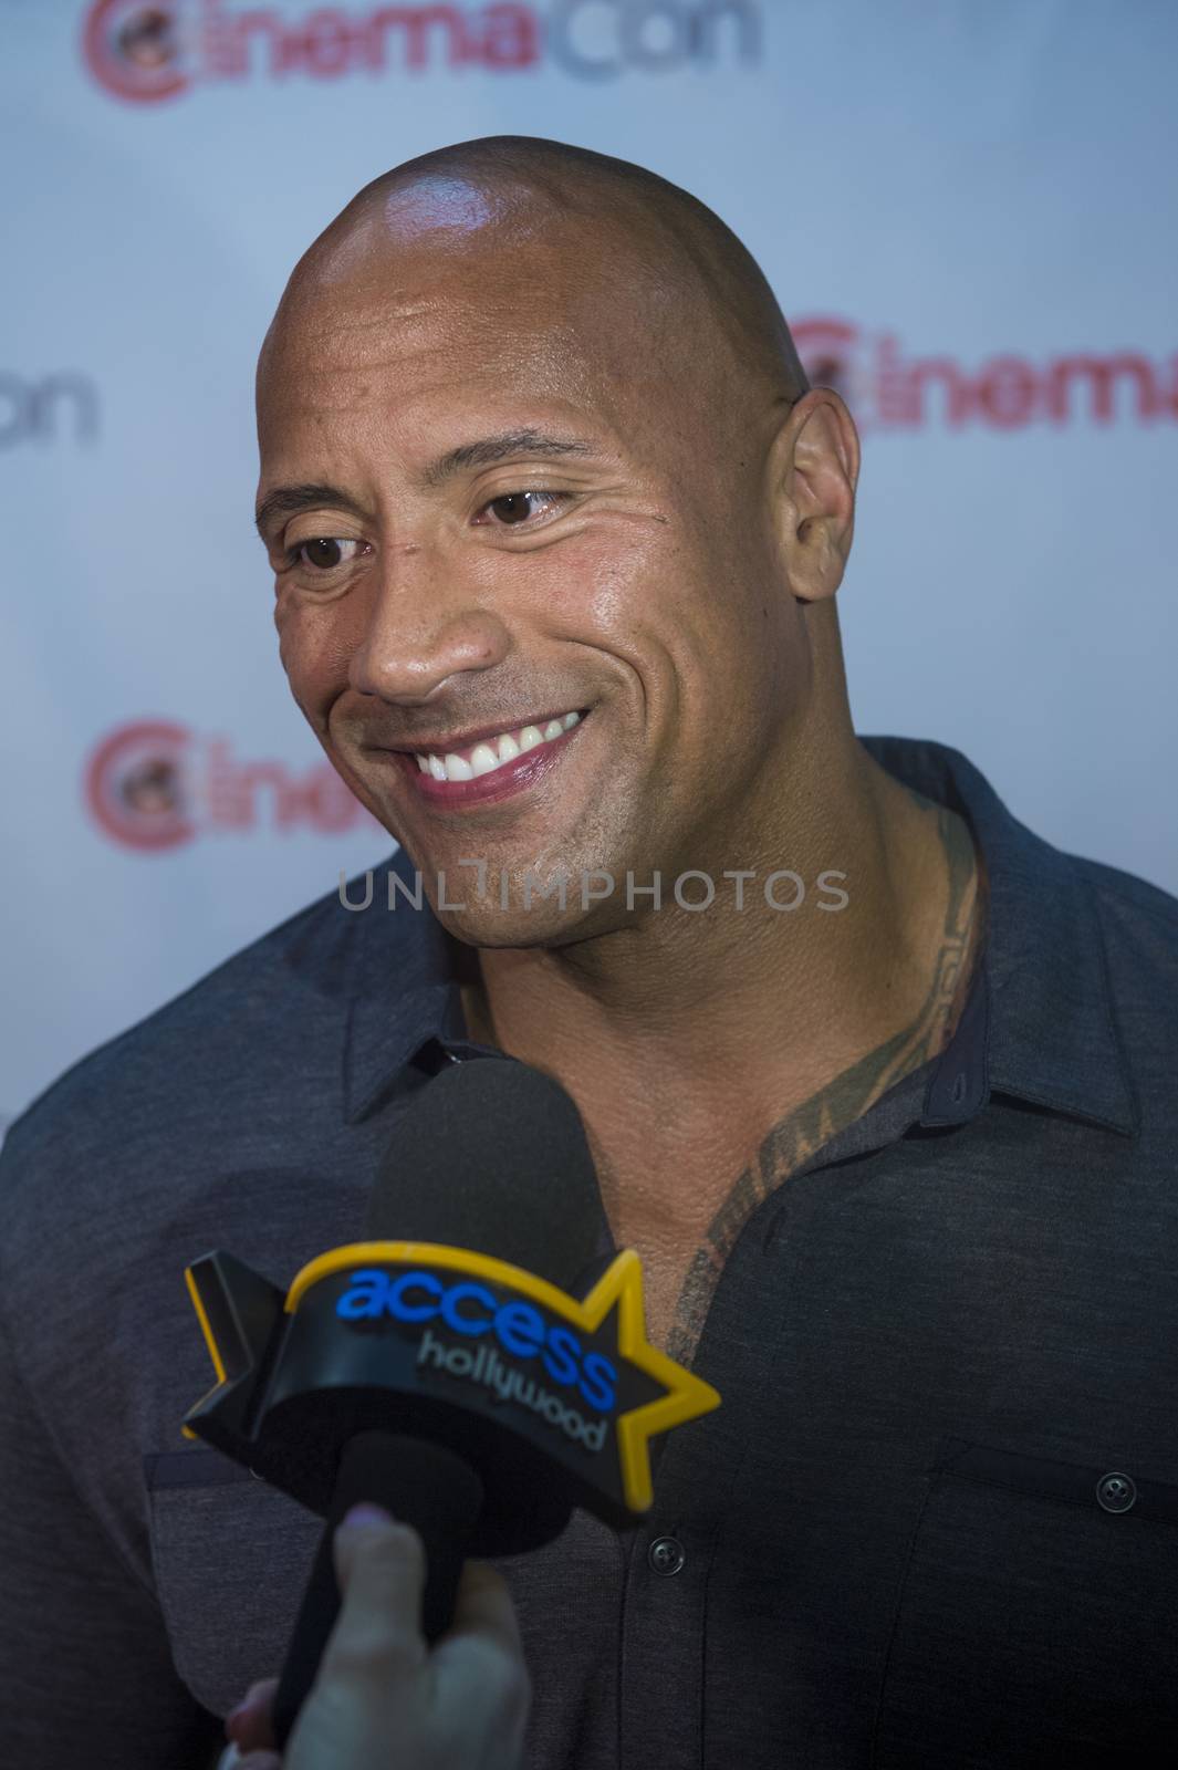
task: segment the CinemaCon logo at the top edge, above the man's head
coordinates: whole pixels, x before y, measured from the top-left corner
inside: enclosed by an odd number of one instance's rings
[[[85,62],[133,104],[242,80],[341,80],[541,64],[577,80],[755,64],[757,0],[525,0],[490,5],[278,7],[225,0],[94,0]]]

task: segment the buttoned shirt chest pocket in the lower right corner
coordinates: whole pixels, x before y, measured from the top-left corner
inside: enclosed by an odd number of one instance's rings
[[[966,1439],[930,1476],[874,1770],[1178,1763],[1178,1485]]]

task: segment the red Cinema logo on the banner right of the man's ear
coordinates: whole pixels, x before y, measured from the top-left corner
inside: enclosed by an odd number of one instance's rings
[[[907,354],[895,333],[868,333],[844,319],[791,322],[812,386],[835,388],[858,430],[1178,418],[1178,352],[1068,350],[1031,363],[1001,352],[978,365],[948,352]]]

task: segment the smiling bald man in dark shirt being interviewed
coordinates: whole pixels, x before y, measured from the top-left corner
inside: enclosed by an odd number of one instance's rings
[[[585,149],[421,156],[297,266],[258,439],[281,664],[400,850],[9,1135],[18,1738],[179,1761],[278,1669],[318,1520],[177,1446],[179,1273],[354,1239],[412,1089],[502,1051],[577,1101],[598,1255],[722,1395],[640,1528],[497,1563],[529,1770],[1160,1761],[1178,906],[856,736],[858,435],[748,251]],[[96,1220],[46,1317],[50,1225]]]

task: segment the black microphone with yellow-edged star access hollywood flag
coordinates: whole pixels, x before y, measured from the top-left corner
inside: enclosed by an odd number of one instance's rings
[[[219,1382],[182,1430],[325,1519],[274,1697],[279,1751],[338,1618],[333,1535],[356,1501],[421,1535],[433,1643],[469,1556],[539,1549],[575,1504],[639,1522],[651,1434],[720,1404],[647,1345],[639,1257],[603,1266],[603,1243],[570,1096],[515,1058],[470,1058],[398,1122],[366,1241],[285,1294],[232,1255],[186,1269]]]

